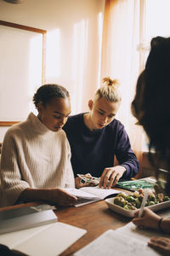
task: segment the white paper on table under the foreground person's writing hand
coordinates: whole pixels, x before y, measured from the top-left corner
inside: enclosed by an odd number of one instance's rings
[[[156,253],[153,249],[148,247],[146,243],[132,238],[130,236],[125,236],[122,232],[116,230],[107,230],[104,234],[99,236],[97,239],[88,244],[88,246],[83,247],[74,256],[157,256],[160,255]]]

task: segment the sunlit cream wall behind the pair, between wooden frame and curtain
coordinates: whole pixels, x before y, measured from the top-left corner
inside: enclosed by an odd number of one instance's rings
[[[22,0],[20,4],[0,0],[0,20],[48,31],[46,82],[70,91],[72,113],[88,110],[88,99],[100,84],[104,7],[105,0]],[[8,102],[8,108],[12,104]],[[0,142],[3,134],[0,128]]]

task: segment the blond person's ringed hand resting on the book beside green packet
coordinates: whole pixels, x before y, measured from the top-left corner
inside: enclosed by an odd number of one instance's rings
[[[102,176],[100,177],[99,188],[103,186],[104,189],[106,187],[108,187],[108,189],[111,189],[116,185],[124,172],[126,172],[126,168],[124,166],[105,168]]]

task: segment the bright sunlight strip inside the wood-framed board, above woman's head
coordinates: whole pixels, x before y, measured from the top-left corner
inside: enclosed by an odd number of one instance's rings
[[[42,85],[42,34],[31,38],[29,58],[29,111],[37,114],[32,96]]]

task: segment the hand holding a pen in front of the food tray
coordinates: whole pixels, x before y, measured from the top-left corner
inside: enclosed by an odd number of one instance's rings
[[[141,227],[146,227],[154,230],[158,230],[158,222],[160,220],[160,216],[158,216],[155,212],[152,212],[148,208],[144,208],[142,218],[138,218],[139,211],[135,212],[134,218],[132,220],[133,224]]]

